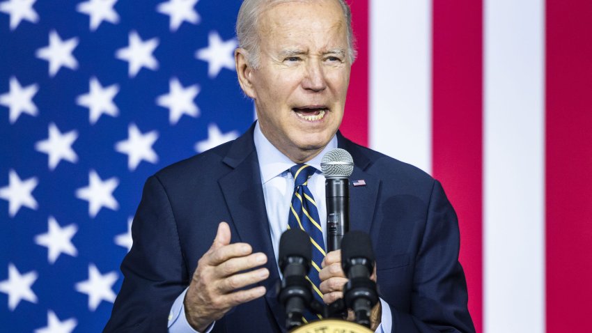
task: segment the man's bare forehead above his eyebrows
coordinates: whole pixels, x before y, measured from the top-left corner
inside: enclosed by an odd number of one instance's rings
[[[274,47],[307,40],[341,44],[347,42],[347,25],[338,1],[283,1],[268,6],[261,13],[258,34],[263,44]]]

